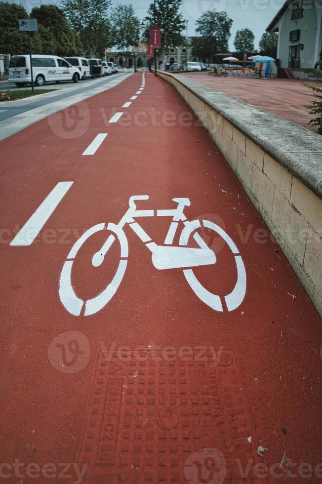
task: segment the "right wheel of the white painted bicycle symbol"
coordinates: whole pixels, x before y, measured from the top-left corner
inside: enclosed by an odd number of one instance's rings
[[[203,226],[207,229],[216,232],[222,239],[228,244],[235,257],[237,267],[237,282],[231,293],[223,297],[225,305],[228,311],[234,311],[237,309],[245,297],[246,293],[246,271],[235,242],[229,237],[229,235],[219,225],[209,222],[209,220],[202,220]],[[188,245],[189,238],[193,232],[201,228],[200,220],[194,220],[187,224],[182,230],[180,236],[180,245]],[[183,274],[194,291],[194,293],[201,299],[204,304],[214,309],[215,311],[224,312],[224,305],[222,298],[218,294],[213,294],[208,291],[201,282],[198,281],[192,269],[184,269]]]

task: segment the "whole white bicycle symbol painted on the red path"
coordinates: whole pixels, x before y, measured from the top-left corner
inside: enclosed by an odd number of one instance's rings
[[[196,232],[201,228],[200,220],[193,220],[189,222],[184,215],[185,206],[190,206],[190,200],[188,198],[174,198],[173,202],[178,204],[175,209],[168,210],[137,210],[137,200],[149,200],[148,195],[132,196],[129,199],[129,207],[126,213],[121,218],[118,225],[114,223],[101,223],[88,229],[80,239],[75,242],[73,248],[67,256],[67,260],[64,263],[60,281],[59,281],[59,296],[62,304],[67,311],[74,315],[80,316],[83,306],[84,316],[90,316],[100,311],[106,304],[112,299],[123,279],[127,259],[128,259],[128,243],[126,235],[124,233],[125,225],[129,225],[135,234],[141,239],[146,247],[152,252],[152,263],[156,269],[175,269],[182,268],[183,274],[194,291],[194,293],[204,302],[207,306],[215,311],[224,311],[222,298],[209,292],[196,278],[193,267],[211,265],[216,263],[216,254],[211,250],[202,237]],[[168,233],[164,240],[164,245],[157,245],[148,234],[142,229],[141,225],[134,219],[137,217],[154,217],[156,212],[157,217],[172,217],[172,222]],[[172,245],[176,231],[178,229],[179,222],[183,222],[183,229],[179,239],[179,246]],[[241,305],[241,302],[246,292],[246,272],[244,264],[233,240],[229,235],[218,225],[208,220],[202,220],[203,226],[207,229],[216,232],[230,247],[236,261],[237,267],[237,282],[233,291],[226,296],[223,296],[225,305],[228,311],[233,311]],[[97,296],[83,301],[80,299],[74,291],[72,286],[72,269],[74,260],[80,250],[80,247],[84,242],[89,239],[96,232],[108,230],[112,232],[92,258],[92,265],[98,267],[102,264],[105,256],[108,254],[112,244],[118,240],[121,246],[121,256],[118,269],[113,280],[107,285],[107,287]],[[194,233],[194,234],[193,234]],[[193,234],[193,236],[192,236]],[[193,237],[199,248],[189,247],[188,243],[190,237]]]

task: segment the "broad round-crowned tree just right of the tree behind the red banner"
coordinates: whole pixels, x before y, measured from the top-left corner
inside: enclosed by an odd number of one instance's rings
[[[204,61],[213,62],[215,54],[227,52],[230,28],[233,20],[225,11],[208,10],[197,20],[196,32],[200,37],[192,39],[192,52]]]

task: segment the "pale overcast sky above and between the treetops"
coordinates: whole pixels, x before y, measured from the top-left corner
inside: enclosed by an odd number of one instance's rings
[[[9,0],[10,3],[13,0]],[[162,0],[159,0],[162,1]],[[60,0],[20,0],[21,3],[30,11],[34,6],[53,3],[60,4]],[[112,0],[113,5],[118,3],[132,3],[136,14],[143,19],[151,0]],[[225,10],[230,18],[233,19],[231,29],[230,50],[234,50],[234,38],[238,29],[248,27],[255,35],[255,49],[258,42],[265,32],[266,27],[281,8],[284,0],[183,0],[181,11],[188,23],[188,35],[195,35],[196,20],[209,9]],[[185,34],[185,33],[184,33]]]

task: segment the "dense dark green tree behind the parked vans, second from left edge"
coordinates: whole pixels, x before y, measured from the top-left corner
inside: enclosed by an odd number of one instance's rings
[[[64,12],[56,5],[34,7],[30,16],[38,21],[42,52],[64,57],[82,53],[78,34],[68,25]]]

